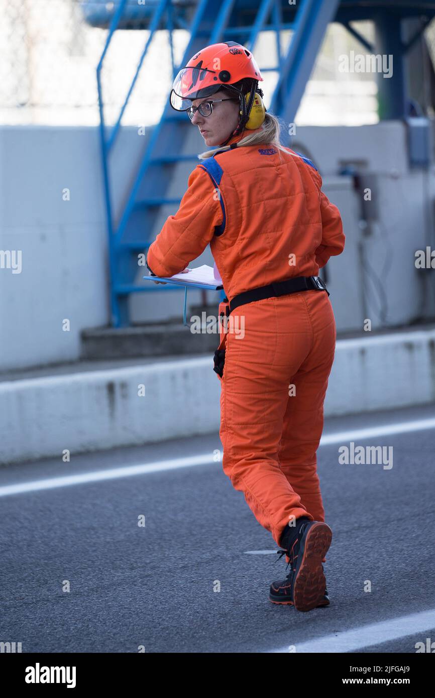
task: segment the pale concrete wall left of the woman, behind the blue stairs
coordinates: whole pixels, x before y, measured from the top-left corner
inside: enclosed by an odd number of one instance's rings
[[[119,133],[111,156],[115,216],[151,131]],[[0,369],[78,359],[81,330],[110,318],[98,128],[0,128],[0,250],[21,252],[20,273],[0,268]],[[138,296],[148,320],[182,318],[182,294],[153,293],[152,304]],[[198,303],[200,292],[188,299]]]

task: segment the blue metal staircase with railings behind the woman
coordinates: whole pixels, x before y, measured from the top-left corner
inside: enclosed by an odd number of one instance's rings
[[[97,84],[114,327],[126,327],[129,324],[128,296],[131,293],[172,292],[173,288],[169,285],[157,287],[154,284],[140,285],[135,281],[138,276],[138,253],[146,253],[153,242],[154,234],[158,232],[156,223],[161,216],[162,207],[171,207],[172,214],[177,210],[181,199],[168,195],[173,168],[184,163],[186,172],[189,173],[198,163],[195,153],[184,153],[187,135],[191,135],[192,131],[189,119],[184,113],[177,114],[167,103],[135,172],[119,221],[113,220],[110,152],[154,32],[168,29],[172,73],[175,77],[179,67],[186,65],[191,56],[206,45],[235,40],[255,52],[260,31],[273,31],[277,37],[278,64],[272,68],[259,66],[262,73],[274,70],[279,75],[274,94],[270,100],[266,100],[266,105],[268,110],[290,123],[295,117],[327,24],[334,20],[337,6],[339,0],[298,0],[295,5],[289,4],[288,0],[146,0],[145,4],[140,4],[138,0],[116,0],[110,3],[110,10],[106,0],[89,0],[83,4],[84,15],[90,24],[109,29],[97,67]],[[119,118],[114,126],[108,128],[104,118],[101,70],[110,40],[120,27],[147,28],[149,37]],[[189,31],[189,43],[180,66],[175,66],[172,31],[180,27]],[[293,35],[288,50],[283,54],[281,31],[288,29],[293,31]],[[147,267],[140,269],[144,270],[144,274],[147,272]]]

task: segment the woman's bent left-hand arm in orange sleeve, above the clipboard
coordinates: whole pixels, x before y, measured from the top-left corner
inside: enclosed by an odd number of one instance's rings
[[[223,213],[212,180],[205,170],[195,168],[175,216],[166,219],[161,232],[148,248],[147,267],[156,276],[179,274],[205,250]]]

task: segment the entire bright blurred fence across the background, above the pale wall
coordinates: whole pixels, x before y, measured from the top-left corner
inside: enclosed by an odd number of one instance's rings
[[[107,29],[91,27],[84,19],[83,0],[0,1],[0,123],[95,126],[99,122],[96,66],[103,52]],[[355,23],[368,40],[371,22]],[[117,120],[130,87],[140,54],[149,36],[147,29],[119,29],[106,54],[102,82],[105,117]],[[433,24],[426,30],[435,45]],[[189,34],[173,34],[175,62],[182,60]],[[283,32],[281,50],[290,33]],[[367,50],[338,24],[327,30],[316,67],[297,114],[302,124],[373,124],[378,121],[376,77],[340,73],[339,55]],[[254,47],[258,64],[277,65],[276,37],[260,34]],[[267,97],[277,73],[265,73]],[[172,82],[167,31],[156,32],[145,57],[135,89],[122,119],[125,125],[156,123]]]

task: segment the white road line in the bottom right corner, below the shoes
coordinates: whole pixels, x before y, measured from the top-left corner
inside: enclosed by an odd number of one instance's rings
[[[295,647],[296,653],[328,653],[328,652],[351,652],[354,650],[362,650],[366,647],[379,645],[383,642],[400,639],[415,635],[418,632],[428,632],[435,629],[435,609],[415,613],[411,616],[401,616],[401,618],[392,618],[390,621],[381,621],[380,623],[372,623],[371,625],[361,625],[360,628],[353,630],[345,630],[339,634],[325,635],[324,637],[316,637],[311,641],[292,642],[292,638],[288,638],[288,646],[279,650],[271,650],[271,652],[286,652],[291,646]],[[420,637],[418,641],[422,641],[426,645],[426,636]],[[415,647],[410,647],[410,651],[415,651]]]

